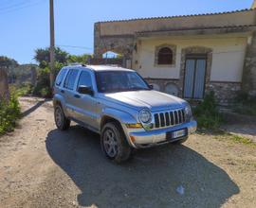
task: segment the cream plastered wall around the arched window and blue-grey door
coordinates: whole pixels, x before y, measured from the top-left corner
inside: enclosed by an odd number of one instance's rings
[[[155,66],[155,46],[163,43],[175,44],[176,61],[173,67]],[[210,80],[242,80],[247,37],[212,36],[204,38],[144,39],[138,44],[136,69],[144,78],[179,78],[181,49],[189,46],[206,46],[213,50]]]

